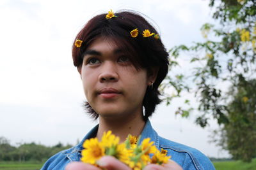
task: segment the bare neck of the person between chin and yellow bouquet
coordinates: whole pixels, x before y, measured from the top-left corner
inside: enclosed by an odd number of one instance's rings
[[[128,134],[132,136],[140,136],[145,122],[142,114],[123,118],[103,118],[99,117],[99,129],[97,138],[101,139],[106,131],[112,131],[113,134],[120,138],[120,142],[124,142]]]

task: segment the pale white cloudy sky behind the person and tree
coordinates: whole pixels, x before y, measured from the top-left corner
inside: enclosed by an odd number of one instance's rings
[[[76,34],[97,14],[110,9],[140,11],[160,32],[166,49],[204,40],[201,25],[214,23],[209,1],[159,2],[1,0],[0,136],[12,145],[32,141],[47,146],[59,141],[75,145],[97,124],[84,113],[81,78],[71,55]],[[186,60],[180,63],[181,67],[188,65]],[[218,128],[214,120],[202,129],[194,124],[196,113],[188,119],[175,116],[184,97],[170,106],[162,103],[157,107],[150,118],[154,129],[160,136],[192,146],[209,157],[229,157],[209,143],[211,131]]]

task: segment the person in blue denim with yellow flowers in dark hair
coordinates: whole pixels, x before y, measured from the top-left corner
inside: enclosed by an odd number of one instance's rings
[[[109,130],[121,142],[128,134],[150,138],[176,162],[145,169],[214,169],[204,154],[161,138],[150,125],[148,117],[160,103],[158,87],[168,72],[168,53],[145,18],[131,11],[93,17],[77,34],[72,57],[83,82],[85,107],[93,118],[99,118],[99,125],[77,146],[47,160],[42,169],[65,169],[67,165],[66,169],[99,169],[76,161],[81,159],[84,140],[100,139]],[[97,164],[130,169],[113,157],[103,157]]]

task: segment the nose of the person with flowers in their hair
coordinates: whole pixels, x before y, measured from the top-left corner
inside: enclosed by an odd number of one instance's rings
[[[102,64],[102,69],[99,74],[99,81],[100,83],[118,81],[118,74],[115,64],[111,62],[105,62]]]

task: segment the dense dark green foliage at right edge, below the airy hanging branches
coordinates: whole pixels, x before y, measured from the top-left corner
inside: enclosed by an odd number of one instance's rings
[[[234,159],[246,162],[256,157],[255,87],[256,80],[243,80],[230,90],[230,93],[235,92],[234,98],[228,104],[230,122],[222,129],[226,134],[227,150]]]

